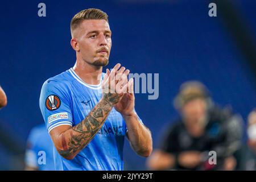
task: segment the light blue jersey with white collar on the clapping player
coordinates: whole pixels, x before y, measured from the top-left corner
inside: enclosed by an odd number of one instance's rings
[[[102,73],[101,81],[105,73]],[[40,94],[40,109],[50,132],[57,126],[75,126],[101,100],[101,82],[89,85],[73,69],[49,78]],[[141,121],[141,120],[140,120]],[[123,170],[126,123],[114,108],[104,125],[72,160],[64,159],[54,147],[56,170]]]

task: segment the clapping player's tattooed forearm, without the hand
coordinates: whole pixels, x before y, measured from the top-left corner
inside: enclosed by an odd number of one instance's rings
[[[102,98],[83,121],[61,134],[59,154],[73,159],[97,134],[112,108],[113,105]]]

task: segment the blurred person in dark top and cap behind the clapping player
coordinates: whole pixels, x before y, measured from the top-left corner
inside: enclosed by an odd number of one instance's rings
[[[181,118],[168,127],[160,147],[147,160],[153,170],[233,170],[240,150],[242,119],[213,104],[200,82],[185,82],[175,98]],[[209,163],[216,151],[216,164]]]

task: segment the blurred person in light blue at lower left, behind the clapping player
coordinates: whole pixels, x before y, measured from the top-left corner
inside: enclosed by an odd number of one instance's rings
[[[53,162],[53,143],[44,124],[32,128],[28,135],[25,170],[55,170]]]

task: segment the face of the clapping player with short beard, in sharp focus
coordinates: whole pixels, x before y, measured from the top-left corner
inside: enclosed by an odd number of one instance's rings
[[[79,31],[77,42],[82,60],[95,66],[108,65],[112,46],[109,23],[102,19],[84,20]]]

